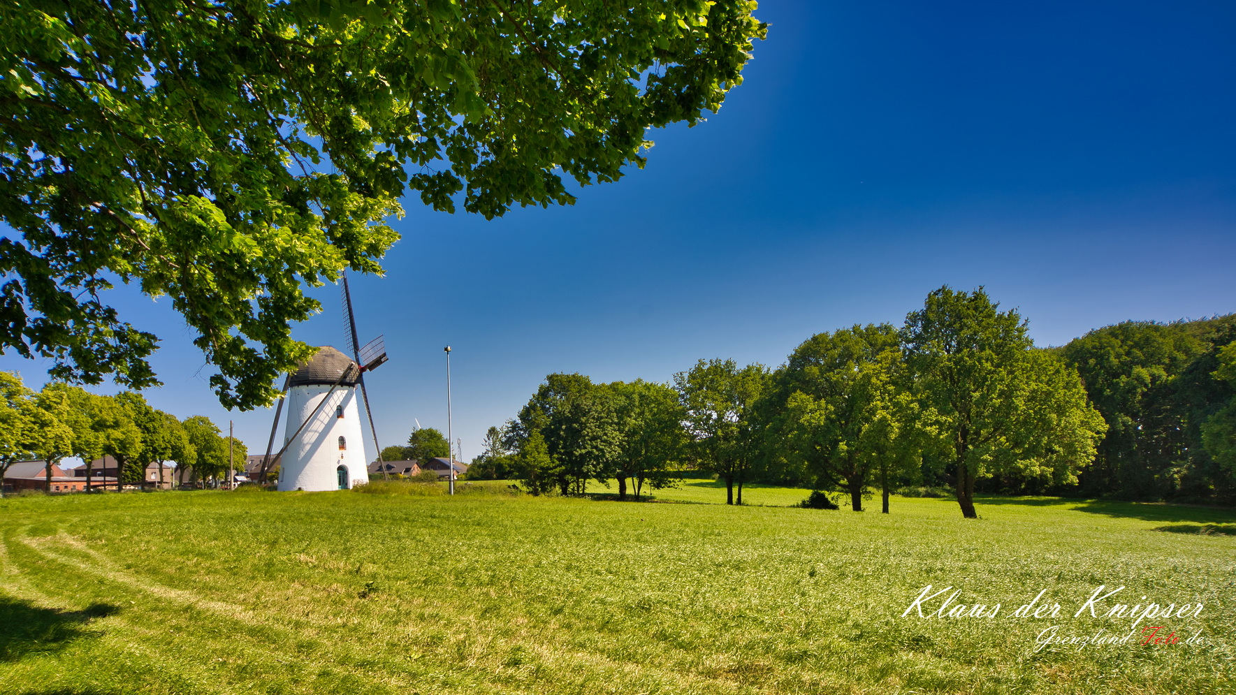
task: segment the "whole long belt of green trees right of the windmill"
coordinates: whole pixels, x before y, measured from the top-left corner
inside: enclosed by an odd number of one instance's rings
[[[855,325],[802,343],[776,370],[700,360],[670,383],[549,375],[491,428],[471,475],[533,492],[588,480],[669,484],[711,471],[742,503],[775,480],[873,490],[1231,500],[1236,481],[1232,317],[1120,324],[1038,349],[1016,310],[943,287],[900,328]],[[1105,439],[1105,434],[1107,434]]]

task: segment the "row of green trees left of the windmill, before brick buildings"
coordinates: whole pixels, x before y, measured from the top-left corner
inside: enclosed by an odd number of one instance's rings
[[[243,461],[245,455],[245,444],[222,437],[209,418],[177,419],[140,393],[98,396],[62,382],[33,392],[17,373],[0,372],[0,477],[16,461],[43,460],[51,490],[52,466],[77,456],[85,461],[90,487],[93,461],[111,456],[117,486],[143,481],[151,464],[158,465],[162,485],[171,463],[184,484],[187,467],[192,480],[219,480],[230,461]]]

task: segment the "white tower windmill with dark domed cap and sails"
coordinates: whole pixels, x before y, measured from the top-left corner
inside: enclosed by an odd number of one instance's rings
[[[352,357],[329,345],[319,348],[308,362],[288,376],[283,397],[274,411],[262,476],[278,465],[281,491],[345,490],[368,482],[357,388],[365,403],[366,419],[370,420],[373,446],[379,451],[378,463],[382,463],[382,448],[378,445],[363,375],[387,361],[386,345],[382,336],[378,336],[363,348],[357,346],[346,272],[342,289],[345,333]],[[272,456],[271,449],[274,448],[274,434],[284,402],[288,404],[284,443]],[[382,472],[386,477],[386,466],[382,466]]]

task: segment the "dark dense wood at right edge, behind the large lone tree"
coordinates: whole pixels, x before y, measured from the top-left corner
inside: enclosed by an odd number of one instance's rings
[[[1083,495],[1236,502],[1236,314],[1126,322],[1058,352],[1107,423]]]

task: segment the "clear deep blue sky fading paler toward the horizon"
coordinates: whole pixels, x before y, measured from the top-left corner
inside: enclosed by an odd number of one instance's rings
[[[549,372],[665,381],[701,357],[774,366],[802,340],[900,323],[942,284],[985,286],[1041,345],[1126,319],[1236,310],[1236,5],[764,1],[747,82],[643,171],[571,208],[486,221],[405,202],[383,278],[352,276],[361,340],[391,362],[383,444],[414,418],[480,453]],[[297,328],[342,348],[339,289]],[[147,392],[251,451],[272,413],[224,411],[193,335],[131,291],[162,339]],[[28,385],[46,365],[11,355]],[[103,391],[109,391],[104,388]],[[372,448],[370,448],[372,455]]]

